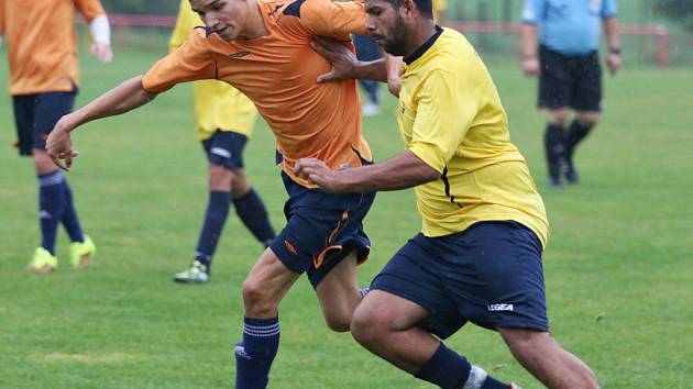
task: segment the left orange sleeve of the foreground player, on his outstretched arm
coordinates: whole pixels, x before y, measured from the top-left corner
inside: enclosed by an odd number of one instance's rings
[[[142,79],[142,87],[151,93],[161,93],[176,84],[217,78],[217,63],[209,49],[206,32],[194,30],[173,53],[160,59]]]

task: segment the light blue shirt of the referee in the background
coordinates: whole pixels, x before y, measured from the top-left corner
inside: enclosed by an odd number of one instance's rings
[[[615,0],[525,0],[522,22],[539,26],[539,43],[580,55],[600,46],[600,20],[616,15]]]

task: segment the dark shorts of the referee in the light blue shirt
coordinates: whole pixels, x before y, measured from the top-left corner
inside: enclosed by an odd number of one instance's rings
[[[602,67],[597,52],[568,56],[539,47],[539,107],[602,110]]]

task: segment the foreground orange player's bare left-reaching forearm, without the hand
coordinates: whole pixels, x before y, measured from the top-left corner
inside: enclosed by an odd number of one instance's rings
[[[133,77],[65,118],[68,122],[64,123],[64,131],[73,131],[92,120],[125,113],[146,104],[155,97],[156,93],[150,93],[142,87],[142,76]]]

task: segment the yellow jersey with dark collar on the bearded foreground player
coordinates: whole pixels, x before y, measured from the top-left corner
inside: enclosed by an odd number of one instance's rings
[[[543,202],[525,158],[510,143],[491,75],[462,34],[438,27],[405,58],[397,120],[407,149],[441,174],[415,188],[424,235],[514,220],[546,245]]]

